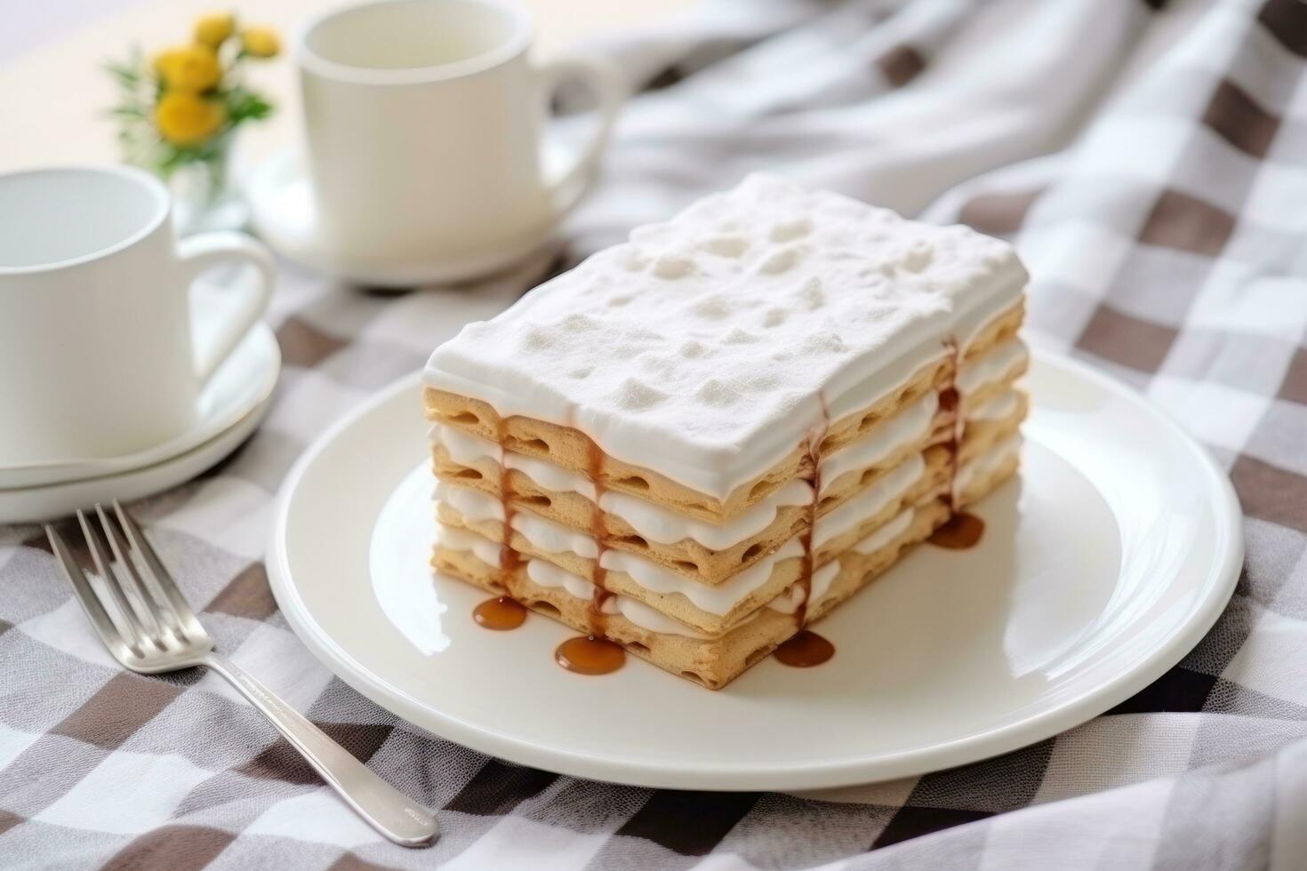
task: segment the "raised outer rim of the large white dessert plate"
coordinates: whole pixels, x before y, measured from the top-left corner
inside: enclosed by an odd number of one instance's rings
[[[1085,689],[1053,708],[965,738],[894,753],[829,763],[793,763],[769,765],[766,769],[732,764],[686,768],[667,761],[614,760],[557,750],[548,744],[489,733],[473,723],[430,708],[425,709],[425,718],[438,721],[439,729],[410,720],[406,714],[406,710],[413,706],[409,696],[380,675],[363,669],[348,650],[327,635],[323,627],[311,620],[293,582],[288,563],[289,556],[282,545],[295,488],[318,456],[341,432],[354,426],[359,418],[384,405],[396,393],[413,389],[420,383],[421,372],[413,372],[392,381],[348,411],[328,427],[291,466],[277,491],[273,508],[273,526],[265,556],[269,586],[291,629],[314,657],[365,697],[438,738],[511,763],[559,774],[651,789],[810,790],[884,782],[992,759],[1093,720],[1144,689],[1179,663],[1225,611],[1238,584],[1244,555],[1244,517],[1238,495],[1229,477],[1202,444],[1193,439],[1165,409],[1116,377],[1038,343],[1031,346],[1031,355],[1040,363],[1069,370],[1073,375],[1087,379],[1099,388],[1125,398],[1178,436],[1209,479],[1210,487],[1204,490],[1213,496],[1214,513],[1218,518],[1223,516],[1230,522],[1218,522],[1225,541],[1218,539],[1218,559],[1213,560],[1212,568],[1201,584],[1202,588],[1210,590],[1209,594],[1171,635],[1141,654],[1133,667],[1123,670],[1114,678]]]

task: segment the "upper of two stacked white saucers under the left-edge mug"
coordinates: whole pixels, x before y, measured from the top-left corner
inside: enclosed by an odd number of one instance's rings
[[[221,291],[196,287],[195,304],[201,309],[201,317],[203,309],[210,304],[217,293]],[[280,372],[281,349],[277,346],[277,337],[267,325],[257,324],[200,393],[195,426],[186,432],[145,451],[120,457],[0,466],[0,495],[10,490],[31,490],[118,475],[180,457],[214,440],[248,418],[251,411],[267,404],[277,385]]]

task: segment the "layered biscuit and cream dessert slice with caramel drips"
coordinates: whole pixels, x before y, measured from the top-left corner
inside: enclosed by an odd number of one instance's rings
[[[1016,471],[1025,282],[765,175],[637,229],[431,355],[433,565],[720,688]]]

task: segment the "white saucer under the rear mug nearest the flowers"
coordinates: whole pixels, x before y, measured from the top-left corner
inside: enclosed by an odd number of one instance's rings
[[[349,262],[319,239],[314,192],[302,150],[286,148],[264,159],[248,174],[243,189],[251,226],[277,253],[316,272],[375,287],[454,283],[489,276],[544,247],[553,235],[550,227],[537,238],[460,260]]]

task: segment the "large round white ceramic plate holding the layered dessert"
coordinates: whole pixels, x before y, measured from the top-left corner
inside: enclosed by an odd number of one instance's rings
[[[634,657],[584,678],[574,635],[472,620],[485,594],[426,569],[431,482],[416,377],[311,448],[268,567],[290,624],[359,692],[429,731],[554,772],[643,786],[816,789],[976,761],[1076,726],[1210,628],[1243,558],[1239,504],[1142,398],[1038,354],[1019,479],[968,551],[918,548],[818,624],[816,669],[758,663],[719,692]]]

